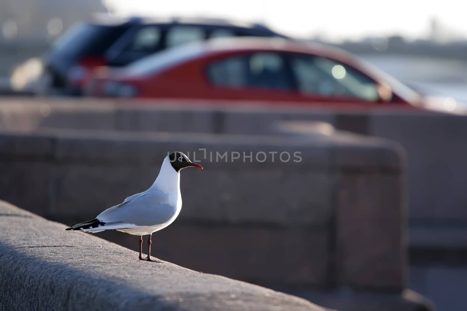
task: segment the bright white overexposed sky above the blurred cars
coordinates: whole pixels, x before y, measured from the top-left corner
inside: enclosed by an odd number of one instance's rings
[[[467,37],[458,0],[102,0],[119,15],[206,16],[262,22],[296,37],[339,41],[365,36],[425,38],[436,19],[443,36]],[[442,4],[442,5],[441,5]]]

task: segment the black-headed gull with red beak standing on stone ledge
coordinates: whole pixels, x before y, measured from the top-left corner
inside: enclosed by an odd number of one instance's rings
[[[151,260],[151,235],[169,226],[182,208],[180,171],[185,167],[203,168],[191,162],[183,152],[172,152],[165,157],[159,175],[152,186],[139,194],[127,197],[119,205],[107,208],[91,221],[77,223],[65,230],[97,233],[117,230],[139,235],[140,260]],[[142,258],[143,235],[148,237],[148,256]]]

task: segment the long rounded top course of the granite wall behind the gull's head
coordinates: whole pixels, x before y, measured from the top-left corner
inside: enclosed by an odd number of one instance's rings
[[[404,166],[403,150],[389,140],[342,131],[311,134],[272,136],[147,132],[142,135],[141,132],[129,131],[0,130],[0,158],[159,166],[168,151],[182,148],[180,151],[190,156],[196,152],[194,159],[203,162],[203,166],[233,170],[239,169],[239,162],[242,170],[287,167],[290,171],[321,167],[325,171],[328,168],[357,168],[399,172]],[[288,152],[288,155],[284,153],[283,159],[280,158],[282,152]],[[300,158],[296,157],[295,152],[299,152],[297,155]],[[234,153],[237,158],[233,158]],[[298,162],[294,161],[296,159]]]

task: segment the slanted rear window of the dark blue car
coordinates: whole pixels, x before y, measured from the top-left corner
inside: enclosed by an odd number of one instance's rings
[[[78,23],[56,41],[53,53],[74,56],[103,55],[127,28],[125,25]]]

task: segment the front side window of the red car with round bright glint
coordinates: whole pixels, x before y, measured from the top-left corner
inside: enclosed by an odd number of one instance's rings
[[[294,55],[292,72],[304,94],[379,99],[377,83],[356,69],[319,56]]]

